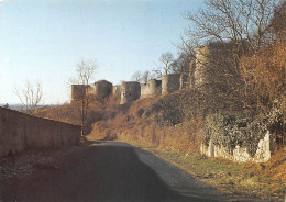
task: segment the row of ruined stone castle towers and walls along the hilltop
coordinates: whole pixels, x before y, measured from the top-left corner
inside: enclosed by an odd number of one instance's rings
[[[107,80],[95,82],[90,94],[99,98],[113,96],[120,99],[120,104],[132,102],[142,98],[151,98],[160,94],[167,94],[177,90],[189,88],[201,88],[208,82],[208,68],[210,66],[209,56],[213,50],[209,46],[198,47],[196,59],[190,61],[189,71],[185,74],[163,75],[162,80],[151,79],[147,83],[136,81],[123,81],[113,86]],[[72,101],[80,100],[86,93],[82,85],[72,85]]]

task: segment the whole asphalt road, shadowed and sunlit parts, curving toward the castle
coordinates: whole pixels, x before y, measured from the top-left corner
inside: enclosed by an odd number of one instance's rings
[[[70,167],[44,170],[43,173],[13,184],[9,198],[2,199],[29,202],[223,201],[215,188],[157,156],[124,143],[100,142]]]

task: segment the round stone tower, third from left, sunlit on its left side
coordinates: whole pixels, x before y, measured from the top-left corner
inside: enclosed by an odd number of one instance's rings
[[[124,104],[134,100],[138,100],[141,96],[141,87],[136,81],[123,81],[121,83],[121,101],[120,104]]]

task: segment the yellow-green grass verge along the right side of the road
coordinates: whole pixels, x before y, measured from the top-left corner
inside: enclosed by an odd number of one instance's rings
[[[210,159],[190,154],[141,143],[132,138],[120,139],[133,146],[148,150],[161,158],[183,168],[198,180],[218,188],[232,199],[250,201],[284,201],[286,183],[274,180],[262,164],[238,164],[224,159]]]

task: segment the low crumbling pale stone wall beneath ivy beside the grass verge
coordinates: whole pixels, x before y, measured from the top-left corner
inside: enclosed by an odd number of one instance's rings
[[[215,145],[213,141],[209,141],[209,145],[201,144],[200,153],[208,157],[221,157],[239,162],[265,162],[271,158],[271,134],[267,131],[264,138],[260,139],[257,150],[254,157],[249,153],[249,148],[245,146],[237,145],[233,150],[223,147],[222,145]]]

